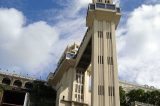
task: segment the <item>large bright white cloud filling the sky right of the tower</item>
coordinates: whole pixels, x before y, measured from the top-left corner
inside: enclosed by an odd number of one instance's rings
[[[119,76],[160,87],[160,5],[142,5],[117,31]]]

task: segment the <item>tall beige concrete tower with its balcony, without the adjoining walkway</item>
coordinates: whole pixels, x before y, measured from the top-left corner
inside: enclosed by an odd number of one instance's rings
[[[92,37],[92,105],[120,106],[115,29],[120,9],[112,0],[93,0],[87,13]]]

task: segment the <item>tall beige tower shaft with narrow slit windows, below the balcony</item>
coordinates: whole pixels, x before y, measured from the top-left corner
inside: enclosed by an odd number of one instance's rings
[[[92,106],[120,106],[115,45],[115,23],[94,19]]]

